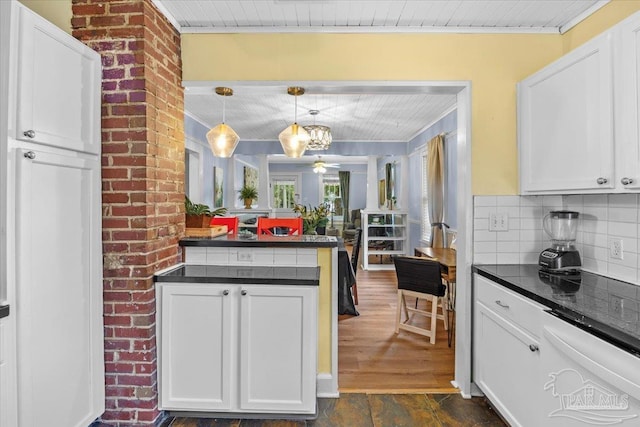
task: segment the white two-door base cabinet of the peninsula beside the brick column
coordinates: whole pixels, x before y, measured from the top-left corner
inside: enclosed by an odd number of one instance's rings
[[[160,409],[315,413],[317,287],[158,289]]]

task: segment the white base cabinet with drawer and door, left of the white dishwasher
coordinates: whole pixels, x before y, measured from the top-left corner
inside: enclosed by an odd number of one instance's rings
[[[474,275],[475,383],[513,426],[537,426],[542,306]]]

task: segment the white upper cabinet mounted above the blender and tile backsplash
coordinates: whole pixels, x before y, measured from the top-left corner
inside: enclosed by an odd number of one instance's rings
[[[520,192],[640,189],[640,13],[518,84]]]

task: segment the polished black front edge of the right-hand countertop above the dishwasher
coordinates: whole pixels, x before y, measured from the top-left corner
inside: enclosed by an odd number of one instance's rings
[[[484,270],[482,265],[474,265],[472,266],[472,270],[474,273],[478,273],[480,276],[483,276],[495,283],[499,283],[507,289],[514,291],[515,293],[527,297],[537,303],[548,307],[550,310],[547,312],[562,319],[582,330],[588,332],[592,335],[601,338],[602,340],[615,345],[618,348],[621,348],[635,356],[640,357],[640,340],[635,338],[634,336],[625,333],[619,329],[613,328],[606,323],[602,323],[597,321],[589,316],[589,313],[581,313],[575,310],[572,310],[568,307],[560,305],[544,296],[538,295],[534,292],[530,292],[517,284],[510,282],[509,280],[505,280],[499,276],[492,274],[490,271]]]

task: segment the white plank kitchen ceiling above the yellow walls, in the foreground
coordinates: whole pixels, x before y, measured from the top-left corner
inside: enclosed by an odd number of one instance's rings
[[[181,32],[564,32],[598,0],[154,0]]]

